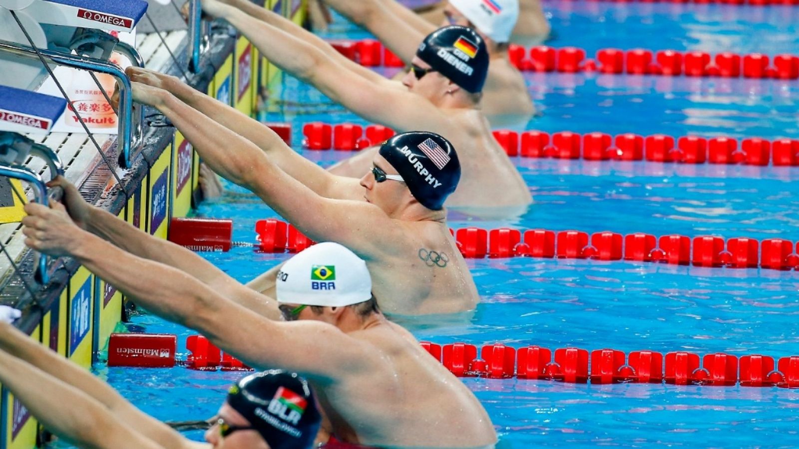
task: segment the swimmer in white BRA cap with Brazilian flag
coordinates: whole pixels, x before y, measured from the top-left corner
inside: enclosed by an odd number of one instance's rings
[[[260,176],[269,179],[272,173]],[[475,395],[410,332],[385,318],[367,264],[340,244],[316,244],[284,264],[276,300],[287,321],[280,322],[221,296],[189,273],[86,232],[60,203],[52,209],[30,203],[25,209],[23,232],[30,248],[74,257],[136,304],[196,329],[249,366],[281,368],[308,379],[325,417],[323,429],[338,441],[379,447],[496,443],[491,419]]]

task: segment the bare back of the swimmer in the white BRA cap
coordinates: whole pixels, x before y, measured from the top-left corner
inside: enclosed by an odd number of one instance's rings
[[[475,395],[397,324],[349,334],[372,351],[375,366],[334,387],[333,408],[352,415],[330,416],[336,437],[389,447],[475,447],[495,443],[491,419]],[[344,401],[352,400],[351,403]],[[386,407],[385,404],[392,404]],[[324,407],[326,410],[328,407]],[[360,419],[360,430],[348,423]],[[364,431],[364,429],[369,431]]]

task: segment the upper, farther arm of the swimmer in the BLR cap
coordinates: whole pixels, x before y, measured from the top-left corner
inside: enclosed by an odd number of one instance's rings
[[[149,439],[163,447],[181,447],[186,441],[171,427],[133,407],[108,383],[50,351],[11,324],[0,323],[0,354],[2,352],[24,360],[31,367],[89,395],[105,406],[118,421],[127,423],[142,435],[148,435]]]

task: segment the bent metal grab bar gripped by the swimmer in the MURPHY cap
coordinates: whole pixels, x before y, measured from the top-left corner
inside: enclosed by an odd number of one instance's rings
[[[41,54],[42,58],[56,66],[66,66],[74,69],[89,70],[100,74],[109,74],[113,76],[117,83],[120,85],[119,92],[119,108],[117,116],[119,117],[119,125],[117,127],[117,148],[121,148],[119,152],[119,165],[124,169],[129,169],[132,163],[133,151],[132,148],[138,148],[141,145],[141,135],[134,142],[133,137],[133,89],[131,89],[130,80],[125,75],[119,66],[113,62],[103,61],[96,58],[85,58],[76,56],[74,54],[64,54],[52,50],[38,49],[34,50],[30,46],[23,46],[16,42],[8,42],[0,40],[0,51],[4,51],[23,58],[34,58],[38,60],[38,55]],[[137,115],[138,121],[141,124],[143,117],[142,108],[139,108]],[[121,144],[120,144],[121,141]]]

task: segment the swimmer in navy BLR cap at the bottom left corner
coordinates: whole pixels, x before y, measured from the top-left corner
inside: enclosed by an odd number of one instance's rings
[[[134,407],[85,368],[18,331],[9,320],[0,320],[0,382],[49,431],[78,447],[308,449],[321,423],[308,382],[272,370],[235,383],[205,432],[207,443],[191,441]],[[303,406],[296,423],[268,406],[278,393],[292,394]]]

